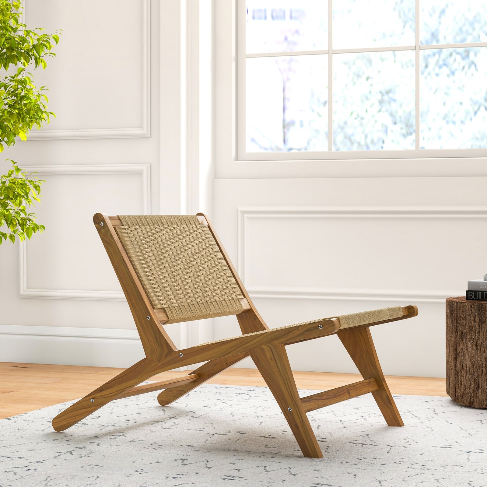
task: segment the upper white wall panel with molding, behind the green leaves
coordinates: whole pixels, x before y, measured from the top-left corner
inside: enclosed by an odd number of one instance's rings
[[[34,73],[49,88],[49,128],[31,140],[150,136],[150,0],[26,0],[27,26],[62,29]]]

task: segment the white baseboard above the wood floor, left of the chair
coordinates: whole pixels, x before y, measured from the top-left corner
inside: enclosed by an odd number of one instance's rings
[[[130,367],[144,358],[135,330],[0,325],[0,361]]]

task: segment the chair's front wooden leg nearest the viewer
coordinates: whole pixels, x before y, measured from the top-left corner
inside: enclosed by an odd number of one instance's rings
[[[304,412],[284,345],[270,343],[250,352],[255,365],[278,402],[305,457],[323,453]]]

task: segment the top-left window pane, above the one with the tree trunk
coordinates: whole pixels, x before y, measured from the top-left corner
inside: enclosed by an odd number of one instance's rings
[[[247,0],[247,53],[328,49],[328,1]]]

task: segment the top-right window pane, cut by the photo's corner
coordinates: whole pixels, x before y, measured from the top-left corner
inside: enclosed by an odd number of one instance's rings
[[[421,44],[487,41],[483,0],[421,0]]]

